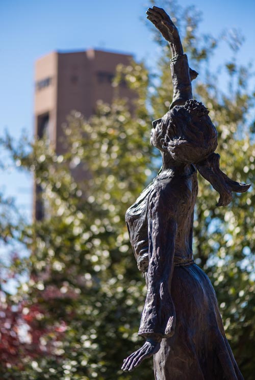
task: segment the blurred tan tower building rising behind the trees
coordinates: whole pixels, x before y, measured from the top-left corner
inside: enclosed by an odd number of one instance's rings
[[[119,63],[128,65],[132,56],[89,49],[74,53],[50,53],[35,64],[35,136],[47,136],[57,154],[64,151],[62,124],[72,110],[86,118],[96,109],[97,100],[111,103],[112,80]],[[120,86],[119,96],[134,98]],[[34,218],[44,217],[40,186],[34,189]]]

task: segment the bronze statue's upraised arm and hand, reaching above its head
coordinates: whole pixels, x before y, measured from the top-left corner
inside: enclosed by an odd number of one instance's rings
[[[192,99],[191,81],[197,77],[198,73],[189,67],[178,29],[164,9],[154,6],[149,8],[146,14],[170,45],[172,53],[170,68],[173,82],[173,99],[170,109],[176,105],[184,105],[186,100]]]

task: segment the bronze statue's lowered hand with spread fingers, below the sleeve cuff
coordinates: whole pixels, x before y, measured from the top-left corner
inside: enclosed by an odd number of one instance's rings
[[[146,340],[144,345],[137,351],[133,352],[129,357],[124,360],[121,369],[125,372],[131,372],[138,367],[142,361],[146,358],[150,358],[152,355],[158,352],[160,349],[160,342],[154,340]]]

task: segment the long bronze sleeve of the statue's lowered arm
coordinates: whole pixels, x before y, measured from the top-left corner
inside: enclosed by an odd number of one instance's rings
[[[149,199],[147,295],[138,332],[144,338],[167,338],[174,333],[175,309],[170,288],[176,220],[165,194],[161,189]]]

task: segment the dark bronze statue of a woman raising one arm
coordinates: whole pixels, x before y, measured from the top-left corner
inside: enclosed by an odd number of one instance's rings
[[[170,44],[174,90],[170,110],[152,122],[150,142],[161,151],[162,169],[126,212],[147,296],[138,333],[145,343],[122,369],[132,371],[154,355],[157,380],[241,380],[212,284],[193,261],[192,230],[197,170],[219,192],[217,206],[249,185],[219,169],[217,132],[207,108],[192,99],[197,73],[173,22],[158,7],[149,8],[147,18]]]

